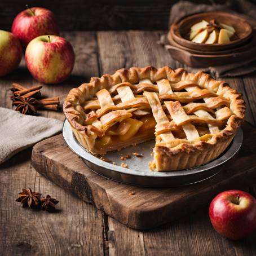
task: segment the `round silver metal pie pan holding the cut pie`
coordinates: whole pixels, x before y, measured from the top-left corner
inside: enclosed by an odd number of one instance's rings
[[[92,171],[116,182],[142,187],[183,186],[208,179],[219,173],[223,168],[224,162],[228,161],[239,151],[242,145],[242,137],[242,129],[240,128],[226,151],[208,164],[180,171],[150,171],[148,162],[153,161],[152,148],[155,145],[155,140],[134,147],[127,147],[121,151],[107,153],[104,157],[116,162],[116,164],[111,164],[100,160],[100,158],[86,151],[73,135],[69,122],[65,120],[63,124],[63,138],[65,142],[74,153],[82,158],[83,162]],[[135,157],[133,155],[135,152],[140,153],[143,157]],[[121,156],[126,155],[130,155],[131,158],[121,160]],[[127,168],[120,166],[122,162],[127,164]]]

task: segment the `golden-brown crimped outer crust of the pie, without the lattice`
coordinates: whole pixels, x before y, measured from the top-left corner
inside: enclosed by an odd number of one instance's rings
[[[201,71],[192,74],[182,68],[176,70],[170,67],[156,69],[149,66],[145,68],[119,69],[112,76],[104,74],[100,78],[92,77],[90,83],[83,83],[78,88],[72,89],[64,101],[63,111],[73,131],[76,131],[75,135],[80,143],[90,152],[99,153],[95,151],[93,143],[96,138],[95,136],[100,136],[101,130],[94,125],[85,124],[86,114],[83,111],[82,105],[86,100],[90,100],[95,96],[96,92],[101,89],[111,90],[111,88],[118,83],[138,83],[140,80],[147,78],[152,82],[162,79],[167,79],[172,83],[188,80],[195,81],[197,85],[203,89],[202,92],[205,92],[205,94],[202,93],[201,98],[203,96],[218,95],[218,99],[216,98],[211,104],[228,105],[226,99],[230,101],[228,107],[231,111],[231,116],[227,120],[227,126],[218,134],[212,135],[209,142],[201,140],[195,143],[181,143],[176,145],[176,147],[169,147],[168,142],[157,142],[155,147],[157,169],[184,169],[189,166],[192,167],[191,165],[199,165],[198,163],[201,161],[204,163],[218,157],[231,142],[241,122],[244,120],[244,100],[242,100],[241,94],[229,87],[227,83],[216,81],[209,74],[205,74]],[[180,90],[183,89],[182,86],[180,86]],[[153,89],[151,89],[151,91],[152,90]],[[184,95],[184,102],[189,102],[186,101],[186,92],[183,92],[183,94],[180,93],[180,95]],[[204,108],[209,108],[209,104],[205,104]],[[203,155],[204,157],[202,157]],[[201,160],[202,158],[204,158],[204,160]],[[187,164],[184,164],[185,162],[187,162]]]

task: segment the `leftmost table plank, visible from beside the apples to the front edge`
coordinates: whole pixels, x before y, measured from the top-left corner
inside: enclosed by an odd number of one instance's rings
[[[98,75],[95,33],[65,33],[64,36],[72,41],[77,56],[73,75],[60,86],[44,85],[44,95],[65,95],[74,84]],[[37,83],[25,69],[23,61],[13,74],[1,78],[1,107],[11,108],[7,89],[14,81],[25,86]],[[59,112],[41,111],[40,114],[64,120],[61,109]],[[28,187],[58,198],[59,213],[22,209],[15,200],[17,193]],[[31,149],[0,166],[0,190],[1,255],[104,254],[104,214],[39,175],[31,166]]]

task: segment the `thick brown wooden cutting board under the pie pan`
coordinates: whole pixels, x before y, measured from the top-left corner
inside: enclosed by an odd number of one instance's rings
[[[247,122],[242,129],[244,143],[239,153],[213,178],[189,186],[151,189],[108,180],[88,169],[68,148],[62,134],[34,145],[32,165],[52,182],[126,226],[149,229],[209,204],[221,191],[255,181],[256,129]]]

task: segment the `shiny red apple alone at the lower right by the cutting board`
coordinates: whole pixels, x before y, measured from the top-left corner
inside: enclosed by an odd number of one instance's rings
[[[220,235],[243,239],[256,229],[256,200],[241,190],[224,191],[211,201],[209,217]]]

